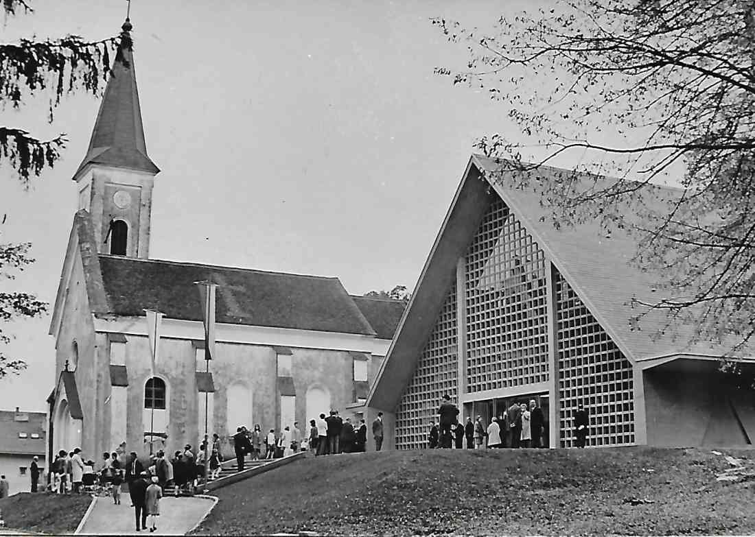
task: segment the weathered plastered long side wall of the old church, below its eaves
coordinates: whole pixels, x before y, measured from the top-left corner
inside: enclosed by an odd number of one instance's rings
[[[109,382],[109,357],[106,352],[106,333],[97,334],[102,340],[102,357],[100,370],[103,375],[103,391],[100,394],[104,403],[110,397],[109,405],[113,404],[113,393],[117,388],[111,388]],[[146,336],[126,336],[125,365],[128,370],[128,388],[126,391],[125,417],[126,450],[136,451],[146,455],[149,445],[144,443],[144,384],[151,373],[149,342]],[[307,422],[307,390],[323,388],[330,394],[330,407],[337,408],[344,413],[347,404],[353,403],[353,357],[347,351],[330,351],[324,349],[292,348],[291,375],[294,379],[296,391],[294,401],[294,419],[299,422],[300,429],[306,430]],[[373,356],[369,369],[369,382],[379,370],[383,357]],[[263,431],[275,428],[281,423],[281,400],[278,389],[278,372],[276,368],[276,353],[267,345],[245,345],[239,343],[219,342],[216,346],[215,359],[210,362],[210,372],[213,375],[215,392],[211,394],[209,422],[210,434],[217,432],[223,443],[223,452],[227,456],[233,455],[233,445],[230,443],[230,433],[235,432],[236,426],[242,424],[228,423],[228,394],[233,385],[243,385],[251,391],[251,410],[244,416],[251,416],[247,427],[259,424]],[[159,359],[156,373],[165,379],[168,388],[168,439],[165,445],[156,444],[166,452],[180,449],[186,443],[193,446],[199,443],[204,435],[204,394],[196,387],[196,350],[189,339],[162,338],[159,346]],[[232,401],[233,404],[233,401]],[[243,410],[243,409],[242,409]],[[322,409],[322,412],[330,410]],[[115,416],[110,409],[104,413],[106,418],[99,428],[100,440],[97,450],[92,451],[92,457],[103,450],[113,450],[111,445],[116,437],[119,425],[112,421]],[[236,413],[235,416],[239,416]],[[237,418],[233,418],[237,419]],[[233,431],[231,430],[233,429]]]

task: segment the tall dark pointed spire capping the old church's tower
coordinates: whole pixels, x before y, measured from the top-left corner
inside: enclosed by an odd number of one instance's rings
[[[89,149],[74,179],[87,164],[125,167],[148,173],[160,171],[146,152],[134,70],[131,23],[128,19],[122,29],[121,42],[116,60],[112,63],[100,111],[97,112]]]

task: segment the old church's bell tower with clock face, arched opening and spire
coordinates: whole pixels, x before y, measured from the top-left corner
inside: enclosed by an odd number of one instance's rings
[[[122,26],[89,149],[73,176],[91,214],[98,253],[149,256],[152,191],[159,168],[146,152],[130,20]]]

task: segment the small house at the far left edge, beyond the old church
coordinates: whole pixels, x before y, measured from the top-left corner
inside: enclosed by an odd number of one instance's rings
[[[0,410],[0,474],[5,475],[10,493],[28,493],[31,489],[32,457],[39,457],[39,469],[45,468],[45,413]],[[42,486],[42,474],[39,476]]]

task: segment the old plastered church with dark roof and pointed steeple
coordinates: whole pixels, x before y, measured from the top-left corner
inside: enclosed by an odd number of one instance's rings
[[[149,259],[159,169],[146,152],[130,30],[127,20],[73,176],[79,210],[50,327],[48,453],[172,453],[205,431],[233,453],[239,425],[306,430],[331,409],[361,417],[402,302],[350,296],[338,278]],[[217,285],[209,361],[198,281]],[[146,308],[165,315],[154,370]]]

